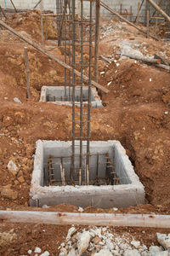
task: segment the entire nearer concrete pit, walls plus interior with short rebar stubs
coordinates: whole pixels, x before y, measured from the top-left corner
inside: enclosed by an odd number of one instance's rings
[[[79,142],[76,141],[76,144],[78,148]],[[86,145],[83,146],[84,154],[85,150]],[[71,142],[37,141],[30,190],[31,207],[68,203],[79,207],[110,208],[144,203],[144,186],[139,182],[125,149],[118,141],[90,143],[89,185],[83,184],[83,173],[82,185],[78,185],[78,156],[75,161],[73,186],[70,180]],[[114,166],[113,176],[110,175],[111,165]],[[48,166],[53,167],[51,180]],[[63,168],[65,185],[61,179]]]

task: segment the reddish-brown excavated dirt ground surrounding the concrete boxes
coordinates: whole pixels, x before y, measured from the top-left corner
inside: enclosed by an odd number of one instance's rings
[[[40,13],[10,15],[7,23],[23,36],[41,44]],[[132,26],[118,20],[101,20],[99,55],[110,57],[111,64],[99,60],[99,90],[104,108],[91,112],[91,140],[118,140],[126,148],[141,183],[145,205],[116,212],[170,214],[170,73],[133,59],[118,59],[122,41],[132,43],[144,55],[170,58],[170,43],[145,38]],[[141,26],[141,25],[140,25]],[[108,27],[110,27],[108,29]],[[154,30],[154,28],[153,28]],[[157,32],[158,33],[158,32]],[[48,25],[48,38],[55,39]],[[53,42],[46,42],[52,49]],[[28,47],[31,99],[26,98],[24,47]],[[50,51],[60,60],[59,49]],[[87,53],[88,58],[88,53]],[[27,211],[78,212],[78,207],[61,205],[48,209],[29,207],[29,189],[35,143],[43,140],[71,140],[71,107],[39,102],[42,85],[64,85],[64,68],[7,30],[0,34],[0,209]],[[14,102],[18,98],[20,102]],[[19,168],[17,176],[8,171],[8,161]],[[115,212],[87,207],[84,212]],[[0,255],[27,255],[30,248],[41,247],[58,255],[69,226],[39,224],[1,224]],[[9,232],[10,230],[10,232]],[[139,241],[156,244],[156,229],[116,228],[130,231]],[[145,233],[143,232],[145,230]],[[170,231],[170,230],[159,230]],[[2,234],[7,232],[5,238]],[[142,233],[143,232],[143,233]],[[13,240],[12,236],[16,236]],[[11,238],[12,237],[12,238]]]

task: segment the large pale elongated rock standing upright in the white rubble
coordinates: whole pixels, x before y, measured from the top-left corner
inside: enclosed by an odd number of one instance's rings
[[[85,231],[82,234],[80,234],[79,239],[77,241],[78,253],[80,255],[82,255],[82,253],[84,253],[88,249],[90,239],[91,236],[88,231]]]

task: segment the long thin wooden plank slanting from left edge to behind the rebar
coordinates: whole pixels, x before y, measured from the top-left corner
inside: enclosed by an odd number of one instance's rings
[[[59,58],[57,58],[56,56],[52,55],[51,53],[49,53],[46,49],[42,48],[39,44],[35,43],[34,41],[31,41],[31,39],[29,38],[25,38],[24,36],[20,35],[19,32],[16,32],[11,26],[8,26],[5,22],[3,22],[2,20],[0,20],[0,25],[5,27],[6,29],[8,29],[8,31],[12,32],[15,36],[17,36],[18,38],[22,39],[23,41],[25,41],[27,44],[30,44],[32,47],[34,47],[35,49],[37,49],[38,51],[42,52],[42,54],[47,55],[51,60],[56,61],[59,65],[61,65],[62,67],[65,67],[66,69],[70,70],[71,72],[73,71],[72,67],[67,65],[64,61],[60,61]],[[81,77],[81,73],[79,71],[77,71],[76,69],[74,69],[74,73],[78,76]],[[84,82],[88,82],[88,77],[85,75],[82,75],[82,79]],[[104,86],[96,83],[94,80],[92,80],[92,85],[94,85],[96,88],[98,88],[99,90],[104,91],[105,93],[108,93],[109,90],[106,89]]]

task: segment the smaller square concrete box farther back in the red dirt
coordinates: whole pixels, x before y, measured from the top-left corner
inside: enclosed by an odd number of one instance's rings
[[[102,101],[95,88],[91,88],[92,108],[102,108]],[[80,107],[81,87],[75,88],[75,105]],[[42,86],[40,102],[53,102],[57,105],[72,106],[72,87],[70,86]],[[88,86],[82,87],[82,105],[88,104]]]

